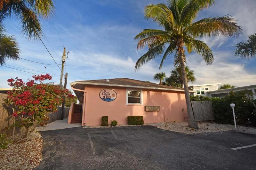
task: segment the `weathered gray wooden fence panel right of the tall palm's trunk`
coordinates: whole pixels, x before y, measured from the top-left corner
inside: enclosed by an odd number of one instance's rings
[[[196,121],[214,120],[211,101],[191,101]]]

